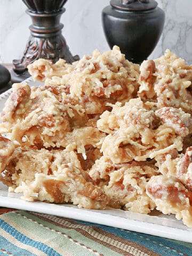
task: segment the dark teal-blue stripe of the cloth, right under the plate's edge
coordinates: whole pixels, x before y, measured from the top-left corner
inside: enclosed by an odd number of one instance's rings
[[[112,233],[116,236],[122,237],[124,239],[128,239],[132,242],[141,244],[146,248],[153,250],[154,252],[159,253],[162,256],[192,256],[192,250],[185,245],[178,244],[178,242],[174,242],[174,240],[151,236],[142,233],[137,233],[134,231],[123,230],[119,228],[108,227],[104,225],[98,225],[91,222],[78,221],[79,223],[83,223],[87,226],[96,226],[99,227],[109,233]]]

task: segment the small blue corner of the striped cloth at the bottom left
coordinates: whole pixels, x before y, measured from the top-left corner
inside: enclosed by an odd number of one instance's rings
[[[0,247],[0,256],[5,255],[25,255],[25,256],[36,256],[36,254],[33,254],[25,249],[21,249],[18,246],[10,243],[5,239],[3,236],[0,235],[0,241],[1,241],[1,247]]]

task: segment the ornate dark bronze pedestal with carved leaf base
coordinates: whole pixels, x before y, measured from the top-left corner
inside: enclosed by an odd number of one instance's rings
[[[28,39],[23,57],[13,60],[11,71],[12,82],[21,82],[30,75],[27,66],[39,58],[56,62],[65,59],[72,63],[79,60],[78,55],[73,56],[61,34],[63,24],[60,18],[66,11],[63,5],[67,0],[22,0],[28,7],[26,11],[30,15],[33,24],[29,27]]]

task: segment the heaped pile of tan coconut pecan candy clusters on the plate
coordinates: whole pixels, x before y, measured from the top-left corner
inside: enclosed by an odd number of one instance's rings
[[[1,113],[1,180],[27,201],[191,215],[192,67],[171,51],[141,66],[113,50],[39,59]]]

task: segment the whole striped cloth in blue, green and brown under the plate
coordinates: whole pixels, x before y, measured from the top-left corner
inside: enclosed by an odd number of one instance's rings
[[[191,256],[192,245],[25,211],[0,216],[1,255]]]

